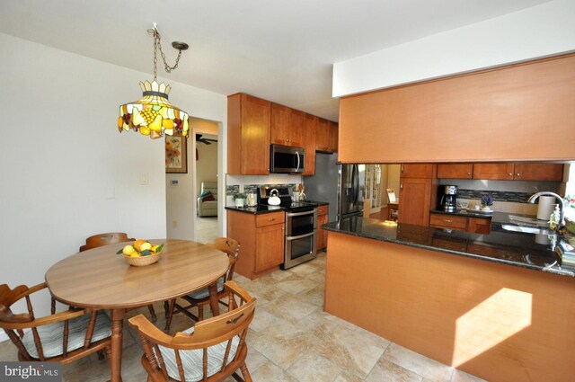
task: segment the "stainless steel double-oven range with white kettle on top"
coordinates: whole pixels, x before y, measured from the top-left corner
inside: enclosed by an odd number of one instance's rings
[[[281,269],[287,270],[302,262],[315,258],[317,241],[317,205],[292,201],[290,187],[261,186],[258,189],[258,204],[270,205],[270,194],[279,197],[279,207],[286,211],[284,263]],[[277,201],[277,200],[273,200]]]

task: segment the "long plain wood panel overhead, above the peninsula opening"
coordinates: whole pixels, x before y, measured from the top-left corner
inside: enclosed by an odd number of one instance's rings
[[[573,54],[340,101],[342,163],[571,160],[574,141]]]

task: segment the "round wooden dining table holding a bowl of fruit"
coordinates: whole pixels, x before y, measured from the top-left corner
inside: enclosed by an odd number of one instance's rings
[[[159,262],[130,266],[125,244],[109,244],[75,253],[46,272],[50,293],[58,301],[88,309],[111,310],[111,381],[121,381],[123,326],[126,310],[178,298],[208,287],[211,308],[219,314],[216,281],[229,264],[215,247],[176,239],[150,240],[163,244]]]

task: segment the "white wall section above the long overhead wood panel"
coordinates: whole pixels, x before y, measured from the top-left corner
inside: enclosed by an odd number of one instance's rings
[[[575,50],[575,1],[555,0],[333,66],[334,97]]]

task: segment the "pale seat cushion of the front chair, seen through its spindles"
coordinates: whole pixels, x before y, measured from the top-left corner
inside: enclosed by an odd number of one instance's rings
[[[194,333],[194,327],[190,327],[183,331],[183,333]],[[234,360],[237,345],[240,343],[240,337],[234,336],[232,339],[232,346],[227,356],[226,365]],[[208,348],[208,377],[216,374],[222,369],[224,362],[224,355],[226,354],[227,341],[220,342],[217,345]],[[180,380],[180,373],[178,372],[178,365],[176,363],[175,351],[170,348],[158,345],[162,357],[164,358],[165,369],[168,371],[170,378]],[[194,351],[180,351],[181,366],[184,370],[186,382],[199,381],[204,378],[204,371],[202,369],[203,350],[198,349]]]

